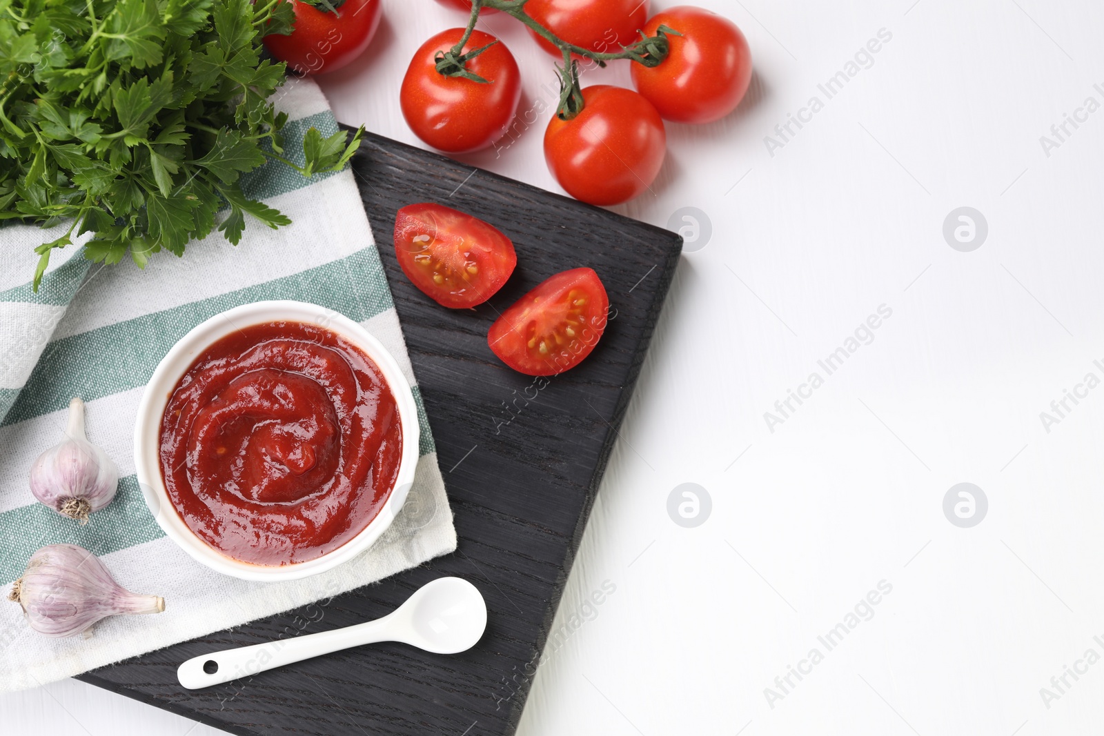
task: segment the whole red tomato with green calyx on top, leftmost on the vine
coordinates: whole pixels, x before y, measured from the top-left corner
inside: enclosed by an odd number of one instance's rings
[[[521,73],[502,42],[469,58],[465,67],[487,84],[437,72],[435,56],[464,36],[464,29],[442,31],[417,50],[399,96],[403,117],[414,134],[434,148],[465,153],[487,148],[506,132],[521,99]],[[464,53],[496,41],[474,31]]]

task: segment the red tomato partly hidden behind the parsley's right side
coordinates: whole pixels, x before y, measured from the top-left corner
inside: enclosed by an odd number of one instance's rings
[[[335,12],[299,0],[291,35],[270,34],[268,52],[299,74],[321,74],[346,66],[363,53],[380,26],[380,0],[346,0]]]

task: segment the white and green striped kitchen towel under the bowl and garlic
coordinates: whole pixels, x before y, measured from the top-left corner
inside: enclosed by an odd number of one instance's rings
[[[310,127],[323,136],[338,130],[309,79],[289,79],[276,105],[289,116],[284,137],[293,160],[302,161]],[[329,598],[456,548],[429,424],[351,170],[304,179],[270,162],[243,185],[293,224],[273,231],[248,223],[236,247],[215,233],[190,244],[182,259],[159,254],[145,271],[91,264],[71,246],[54,252],[38,294],[33,247],[56,236],[0,228],[0,595],[34,551],[68,542],[98,555],[123,587],[166,600],[163,614],[108,618],[87,639],[49,639],[28,627],[18,604],[0,599],[0,691]],[[195,324],[264,299],[314,302],[364,326],[415,386],[422,422],[415,483],[388,532],[355,559],[291,583],[247,583],[192,561],[153,521],[134,474],[138,399],[155,366]],[[88,439],[110,455],[120,478],[115,500],[83,526],[35,502],[28,486],[34,458],[61,441],[73,396],[87,403]]]

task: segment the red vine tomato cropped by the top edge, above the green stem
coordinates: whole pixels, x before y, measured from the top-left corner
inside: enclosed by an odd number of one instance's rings
[[[529,0],[526,12],[561,40],[598,53],[620,51],[639,38],[648,0]],[[544,51],[562,52],[533,33]]]

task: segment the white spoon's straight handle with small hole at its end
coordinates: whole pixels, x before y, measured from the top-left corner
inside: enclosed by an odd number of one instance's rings
[[[181,664],[177,669],[177,679],[188,690],[198,690],[350,647],[393,641],[390,618],[384,616],[343,629],[201,654]]]

